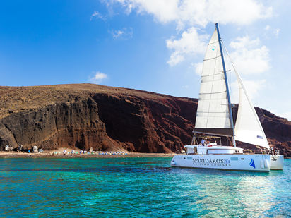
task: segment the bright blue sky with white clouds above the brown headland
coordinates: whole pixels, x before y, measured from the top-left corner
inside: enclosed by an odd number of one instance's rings
[[[290,11],[280,0],[1,1],[0,85],[97,83],[198,97],[218,22],[254,105],[291,120]]]

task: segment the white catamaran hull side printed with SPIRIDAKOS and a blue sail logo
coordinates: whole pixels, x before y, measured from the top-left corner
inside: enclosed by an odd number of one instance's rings
[[[270,171],[270,155],[175,155],[171,166],[236,171]]]

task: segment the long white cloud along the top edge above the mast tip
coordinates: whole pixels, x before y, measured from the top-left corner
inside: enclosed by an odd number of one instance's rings
[[[247,25],[261,18],[272,16],[273,8],[256,0],[112,0],[127,13],[149,13],[161,23],[176,22],[181,25],[207,23],[235,23]]]

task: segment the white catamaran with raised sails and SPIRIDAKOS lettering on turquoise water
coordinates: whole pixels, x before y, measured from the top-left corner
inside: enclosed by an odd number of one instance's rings
[[[283,155],[270,149],[242,78],[237,71],[235,73],[239,83],[239,109],[234,126],[222,42],[216,23],[203,61],[194,138],[191,145],[184,146],[186,155],[175,155],[171,166],[243,171],[283,170]],[[233,146],[222,145],[220,136],[232,138]],[[236,140],[259,145],[265,152],[244,153],[242,148],[236,147]]]

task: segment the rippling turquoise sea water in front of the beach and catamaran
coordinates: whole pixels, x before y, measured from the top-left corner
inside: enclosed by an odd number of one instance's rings
[[[170,158],[0,159],[1,217],[288,217],[291,159],[270,173]]]

